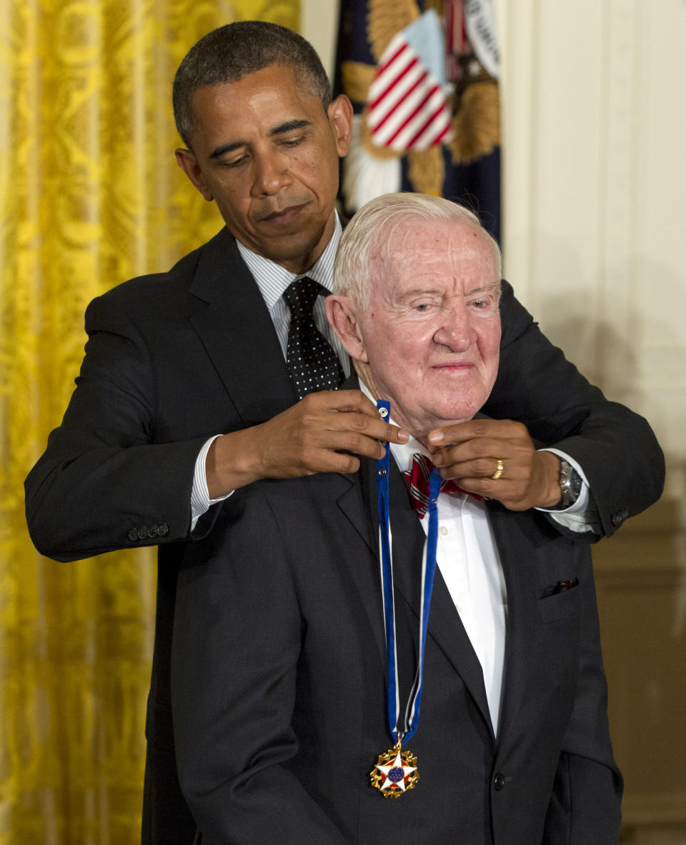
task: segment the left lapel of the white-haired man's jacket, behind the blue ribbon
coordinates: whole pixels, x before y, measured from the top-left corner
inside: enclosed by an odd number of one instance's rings
[[[396,602],[406,602],[411,608],[414,623],[419,625],[421,557],[425,533],[417,515],[409,505],[405,482],[393,462],[391,462],[390,475],[389,510],[392,531],[393,585]],[[374,461],[362,461],[360,471],[354,477],[353,485],[347,493],[338,499],[338,504],[370,548],[378,565],[379,518],[376,504],[376,463]],[[382,613],[381,606],[378,608],[378,613],[380,615]],[[490,726],[491,717],[481,664],[469,641],[469,636],[464,630],[464,625],[459,618],[459,613],[440,571],[436,571],[434,581],[428,632],[460,675],[464,685],[469,690],[469,694],[486,720],[486,724]],[[414,636],[416,638],[416,635]],[[412,671],[414,673],[414,668]],[[431,679],[426,679],[426,684],[431,689]],[[440,695],[440,691],[436,690],[435,694]]]

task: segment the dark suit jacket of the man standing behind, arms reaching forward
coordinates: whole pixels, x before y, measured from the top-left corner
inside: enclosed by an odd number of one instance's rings
[[[579,460],[612,534],[661,493],[664,461],[650,427],[605,401],[507,282],[501,313],[501,368],[486,411],[521,420]],[[36,548],[57,560],[160,546],[144,840],[183,845],[193,825],[174,768],[169,652],[195,458],[211,434],[261,423],[295,397],[264,301],[226,229],[169,272],[96,298],[85,328],[76,390],[26,479],[27,521]],[[197,537],[216,515],[200,519]]]

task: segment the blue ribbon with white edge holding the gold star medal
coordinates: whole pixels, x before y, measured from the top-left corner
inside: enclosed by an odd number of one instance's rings
[[[385,400],[376,401],[376,407],[381,417],[390,416],[391,404]],[[417,672],[414,684],[409,694],[403,729],[398,731],[398,717],[400,702],[398,700],[398,647],[395,631],[395,600],[393,594],[393,562],[391,523],[388,518],[388,472],[391,450],[388,444],[386,455],[376,461],[376,493],[379,506],[379,549],[381,558],[381,597],[383,599],[383,621],[386,631],[386,663],[387,663],[387,711],[388,726],[393,741],[407,741],[414,736],[420,723],[421,692],[424,683],[424,651],[426,645],[426,628],[429,624],[431,609],[431,593],[433,592],[434,575],[436,575],[436,544],[438,542],[438,513],[436,501],[441,492],[442,477],[436,469],[431,471],[429,478],[429,529],[424,545],[421,566],[421,609],[420,609],[420,647]],[[399,739],[398,739],[399,737]]]

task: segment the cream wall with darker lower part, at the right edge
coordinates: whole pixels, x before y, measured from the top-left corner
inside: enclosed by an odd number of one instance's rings
[[[594,570],[626,841],[683,843],[686,2],[496,3],[505,274],[667,457],[661,502],[595,547]]]

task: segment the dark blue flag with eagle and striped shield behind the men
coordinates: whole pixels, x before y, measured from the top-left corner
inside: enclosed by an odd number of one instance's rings
[[[493,0],[341,0],[336,93],[354,106],[348,215],[392,191],[454,199],[500,240]]]

